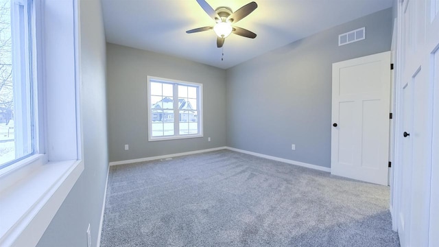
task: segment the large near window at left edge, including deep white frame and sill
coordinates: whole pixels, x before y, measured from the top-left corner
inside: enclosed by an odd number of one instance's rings
[[[0,155],[0,246],[36,246],[84,171],[78,1],[0,0],[0,10],[0,67],[10,71],[0,72],[0,107],[12,104],[0,126],[8,117],[13,137],[0,128],[0,147],[13,150]]]

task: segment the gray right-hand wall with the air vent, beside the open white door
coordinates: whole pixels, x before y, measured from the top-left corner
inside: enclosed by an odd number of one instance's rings
[[[338,47],[360,27],[366,40]],[[332,63],[389,51],[391,39],[389,8],[228,69],[228,146],[330,167]]]

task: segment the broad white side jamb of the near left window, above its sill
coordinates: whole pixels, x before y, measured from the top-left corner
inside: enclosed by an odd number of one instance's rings
[[[75,2],[45,0],[44,3],[44,60],[45,133],[49,161],[80,159],[78,157],[78,102],[80,92],[76,78]],[[38,38],[38,37],[37,37]],[[62,80],[60,80],[62,78]]]

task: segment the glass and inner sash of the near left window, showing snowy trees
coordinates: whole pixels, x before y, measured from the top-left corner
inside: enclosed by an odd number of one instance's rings
[[[31,6],[0,0],[0,169],[36,148]]]

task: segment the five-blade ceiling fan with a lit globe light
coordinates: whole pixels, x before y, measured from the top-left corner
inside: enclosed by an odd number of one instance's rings
[[[186,31],[187,34],[213,30],[215,34],[217,34],[218,48],[224,45],[224,40],[226,40],[227,36],[229,36],[231,33],[247,38],[256,38],[256,34],[254,32],[250,32],[241,27],[233,26],[233,24],[241,21],[241,19],[248,16],[248,14],[258,8],[257,3],[255,3],[254,1],[252,1],[251,3],[247,3],[235,12],[233,12],[228,7],[218,7],[216,10],[213,10],[211,5],[209,5],[209,3],[206,3],[206,1],[204,0],[197,0],[197,2],[198,4],[200,4],[201,8],[207,14],[209,14],[209,16],[211,16],[216,24],[209,27],[198,27],[193,30],[188,30]]]

